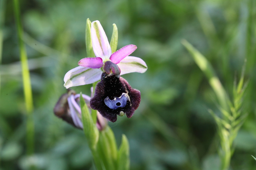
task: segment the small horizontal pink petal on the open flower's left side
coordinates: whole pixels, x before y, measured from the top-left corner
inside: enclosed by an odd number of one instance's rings
[[[92,69],[98,69],[103,66],[103,62],[100,57],[83,58],[78,62],[78,65],[83,67],[89,67]]]

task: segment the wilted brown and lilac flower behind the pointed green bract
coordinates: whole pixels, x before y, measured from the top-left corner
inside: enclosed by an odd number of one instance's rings
[[[91,88],[92,94],[93,88]],[[81,120],[81,108],[79,106],[80,94],[76,94],[74,90],[68,90],[68,93],[63,94],[54,107],[54,114],[76,128],[83,129]],[[91,97],[82,94],[86,103],[90,102]],[[90,107],[90,106],[89,106]],[[90,110],[90,109],[89,109]],[[107,121],[97,111],[96,126],[99,130],[103,130],[107,125]]]

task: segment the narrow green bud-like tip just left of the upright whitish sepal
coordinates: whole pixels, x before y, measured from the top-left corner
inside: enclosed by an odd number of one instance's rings
[[[95,54],[92,49],[91,23],[92,22],[89,20],[89,18],[87,18],[85,28],[85,45],[87,57],[95,57]]]

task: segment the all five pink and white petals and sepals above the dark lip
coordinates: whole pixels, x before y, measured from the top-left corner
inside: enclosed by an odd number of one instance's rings
[[[142,59],[129,56],[136,50],[136,45],[126,45],[111,54],[108,38],[99,21],[91,23],[91,41],[96,57],[81,59],[78,67],[66,73],[64,77],[66,88],[99,81],[106,61],[117,64],[121,70],[120,75],[132,72],[144,73],[147,70],[147,65]]]

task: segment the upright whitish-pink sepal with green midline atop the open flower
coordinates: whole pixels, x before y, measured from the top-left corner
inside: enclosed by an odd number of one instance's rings
[[[95,56],[102,58],[103,61],[108,60],[111,55],[111,48],[99,21],[91,23],[91,37]]]

